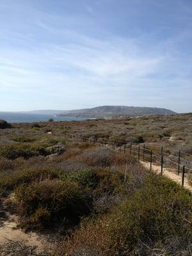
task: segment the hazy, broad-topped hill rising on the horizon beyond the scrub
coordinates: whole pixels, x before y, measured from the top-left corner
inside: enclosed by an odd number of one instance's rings
[[[173,115],[176,114],[170,109],[145,108],[127,106],[100,106],[89,109],[77,109],[65,111],[60,116],[73,116],[83,118],[115,118],[125,116],[147,116],[147,115]]]

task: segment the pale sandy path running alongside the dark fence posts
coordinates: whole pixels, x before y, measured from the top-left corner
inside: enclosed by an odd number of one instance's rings
[[[145,163],[141,161],[141,164],[145,166],[146,168],[150,169],[150,163]],[[161,173],[161,166],[157,166],[155,164],[152,164],[152,170],[156,173]],[[166,177],[174,180],[175,182],[182,184],[182,175],[177,175],[173,172],[170,172],[167,168],[163,168],[163,175]],[[192,186],[189,184],[188,178],[185,176],[184,178],[184,188],[189,189],[192,192]]]

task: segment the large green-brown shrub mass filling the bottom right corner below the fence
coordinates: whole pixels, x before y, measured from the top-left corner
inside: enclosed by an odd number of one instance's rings
[[[188,191],[166,178],[148,175],[122,205],[97,220],[83,222],[72,237],[56,246],[55,255],[78,255],[74,253],[84,248],[84,255],[189,256],[191,205]]]

